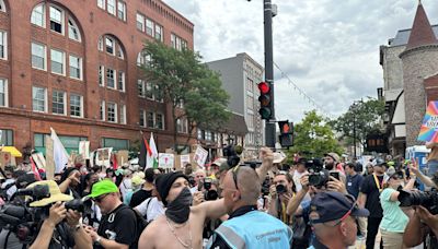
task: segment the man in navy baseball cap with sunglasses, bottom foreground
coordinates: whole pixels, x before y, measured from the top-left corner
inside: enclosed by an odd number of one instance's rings
[[[311,249],[347,248],[356,244],[356,217],[368,216],[351,195],[339,192],[320,192],[310,203],[310,223],[316,239]]]

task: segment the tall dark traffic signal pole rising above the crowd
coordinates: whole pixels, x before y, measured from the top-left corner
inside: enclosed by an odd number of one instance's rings
[[[265,29],[265,82],[270,85],[270,120],[266,120],[265,143],[275,147],[275,105],[274,105],[274,60],[273,60],[273,5],[270,0],[263,0],[264,29]]]

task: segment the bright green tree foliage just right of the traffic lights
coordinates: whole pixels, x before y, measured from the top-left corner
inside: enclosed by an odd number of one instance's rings
[[[306,112],[304,119],[295,124],[295,141],[291,153],[301,153],[308,157],[322,157],[325,153],[336,152],[342,154],[327,120],[316,114],[316,110]]]

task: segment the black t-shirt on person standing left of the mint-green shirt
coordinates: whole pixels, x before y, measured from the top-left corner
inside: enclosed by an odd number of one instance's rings
[[[383,176],[377,177],[379,180],[380,189],[382,190]],[[365,208],[370,212],[370,217],[383,217],[383,210],[380,204],[380,191],[377,187],[374,175],[369,175],[364,179],[360,187],[360,192],[367,194],[367,202]]]

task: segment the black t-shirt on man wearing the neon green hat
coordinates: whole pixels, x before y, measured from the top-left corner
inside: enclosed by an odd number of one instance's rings
[[[120,204],[113,212],[102,216],[97,234],[102,238],[115,240],[118,244],[137,248],[137,218],[134,211],[125,204]],[[94,245],[94,248],[103,248]]]

